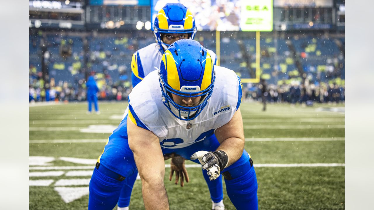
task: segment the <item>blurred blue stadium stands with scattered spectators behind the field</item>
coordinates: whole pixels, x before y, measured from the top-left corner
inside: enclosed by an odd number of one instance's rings
[[[214,33],[200,31],[195,40],[216,51]],[[40,96],[43,92],[55,94],[49,99],[85,100],[83,90],[88,74],[98,80],[99,99],[126,100],[131,91],[132,53],[153,42],[154,36],[149,32],[30,34],[30,100],[48,100]],[[255,42],[253,34],[221,33],[220,65],[236,71],[241,78],[253,78]],[[313,34],[274,37],[264,33],[260,43],[261,75],[270,84],[268,101],[344,101],[344,37]],[[55,81],[46,90],[41,79],[43,44],[49,78]],[[301,82],[305,78],[310,84],[307,87]],[[292,87],[300,90],[300,96],[290,93]],[[244,90],[248,100],[261,100],[257,86],[249,85]]]

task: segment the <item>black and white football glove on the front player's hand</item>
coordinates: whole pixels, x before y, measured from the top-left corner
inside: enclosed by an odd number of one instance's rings
[[[198,151],[190,157],[191,160],[199,159],[202,169],[208,171],[209,179],[215,180],[220,176],[223,170],[229,163],[229,157],[226,152],[218,150],[215,152]]]

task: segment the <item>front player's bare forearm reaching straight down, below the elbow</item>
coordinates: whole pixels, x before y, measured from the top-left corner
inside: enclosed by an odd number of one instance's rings
[[[147,210],[168,210],[168,194],[161,177],[155,179],[142,179],[142,193],[144,206]]]

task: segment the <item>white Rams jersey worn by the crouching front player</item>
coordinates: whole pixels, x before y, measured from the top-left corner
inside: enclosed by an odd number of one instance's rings
[[[214,70],[212,96],[193,120],[179,120],[163,104],[157,70],[134,87],[124,116],[129,114],[135,124],[153,132],[165,148],[183,148],[204,140],[231,120],[242,99],[242,84],[235,72],[219,66]]]

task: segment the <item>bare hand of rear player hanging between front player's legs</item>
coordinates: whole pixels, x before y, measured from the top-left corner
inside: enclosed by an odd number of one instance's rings
[[[181,178],[181,186],[184,186],[184,179],[188,182],[188,173],[186,166],[184,165],[184,158],[182,156],[173,156],[170,161],[170,176],[169,180],[171,181],[173,174],[175,172],[175,184],[178,184],[179,178]]]

